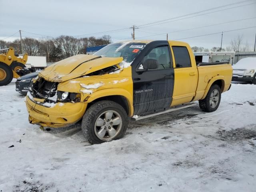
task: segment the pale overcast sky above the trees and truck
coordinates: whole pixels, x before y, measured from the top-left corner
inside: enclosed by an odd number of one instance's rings
[[[83,35],[128,28],[132,25],[140,26],[241,1],[242,0],[0,0],[2,7],[0,12],[0,39],[11,36],[18,30],[53,37],[60,35],[85,37]],[[250,5],[242,6],[246,4]],[[241,7],[232,8],[236,6]],[[144,28],[141,27],[136,30],[135,38],[165,40],[165,33],[167,32],[197,28],[168,34],[168,39],[176,40],[256,26],[256,0],[222,7],[208,12],[227,8],[232,9],[209,14],[202,12],[200,14],[205,15],[190,15],[195,17],[177,21],[168,20],[172,22]],[[247,18],[252,19],[242,20]],[[234,20],[242,21],[230,22]],[[230,23],[220,24],[224,22]],[[198,28],[202,26],[208,27]],[[23,37],[42,37],[26,32],[22,32]],[[106,32],[104,34],[109,34],[115,42],[120,39],[130,38],[131,33],[132,29],[126,29],[121,32]],[[154,35],[160,33],[164,33],[164,35]],[[94,36],[100,37],[104,34]],[[228,46],[230,40],[235,36],[243,35],[244,43],[248,41],[248,44],[253,48],[255,34],[256,27],[225,32],[223,34],[223,47]],[[19,38],[19,33],[5,40],[10,41],[16,38]],[[181,41],[188,42],[191,46],[211,48],[213,46],[220,46],[221,34],[187,38]]]

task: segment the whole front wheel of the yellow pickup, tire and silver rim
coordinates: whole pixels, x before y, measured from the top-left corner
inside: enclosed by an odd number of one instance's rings
[[[82,119],[84,137],[93,144],[117,140],[127,129],[127,114],[113,101],[99,101],[86,110]]]

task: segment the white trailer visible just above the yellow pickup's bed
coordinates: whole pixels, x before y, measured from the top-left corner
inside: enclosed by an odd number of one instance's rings
[[[235,52],[194,52],[196,63],[230,62],[233,64]]]

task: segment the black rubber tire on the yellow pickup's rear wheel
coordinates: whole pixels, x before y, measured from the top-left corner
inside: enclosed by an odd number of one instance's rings
[[[213,93],[214,90],[218,92],[218,102],[216,102],[214,105],[211,105],[212,102],[215,102],[211,98],[211,94]],[[220,105],[220,99],[221,99],[220,87],[217,84],[214,84],[210,87],[206,97],[203,100],[199,100],[199,107],[201,110],[205,112],[214,112],[218,109]]]

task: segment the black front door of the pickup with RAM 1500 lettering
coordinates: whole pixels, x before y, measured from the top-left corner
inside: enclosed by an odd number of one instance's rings
[[[143,64],[153,61],[154,69]],[[146,66],[145,66],[146,67]],[[134,115],[170,107],[174,87],[174,69],[167,41],[149,43],[132,64]]]

